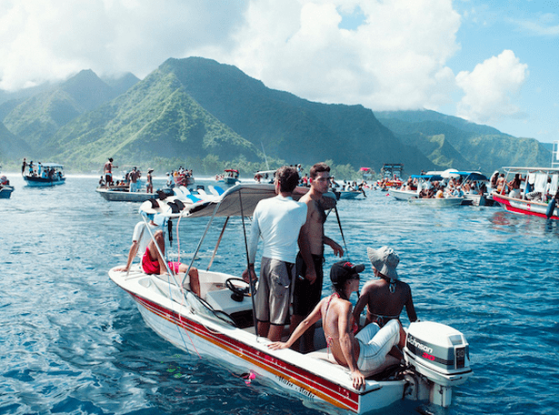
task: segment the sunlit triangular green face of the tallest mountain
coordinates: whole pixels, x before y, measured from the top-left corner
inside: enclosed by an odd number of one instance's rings
[[[175,74],[155,70],[113,101],[61,127],[43,148],[70,166],[99,166],[214,155],[256,159],[257,149],[188,96]]]

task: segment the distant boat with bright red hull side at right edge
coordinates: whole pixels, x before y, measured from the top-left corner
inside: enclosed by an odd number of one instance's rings
[[[556,206],[554,195],[557,193],[559,187],[559,168],[552,167],[503,167],[506,171],[505,181],[508,182],[514,177],[515,174],[526,176],[526,181],[534,192],[544,194],[547,179],[551,179],[549,193],[551,199],[545,202],[539,198],[528,199],[526,193],[530,191],[524,189],[524,195],[521,197],[510,197],[501,194],[497,191],[492,193],[493,199],[505,210],[520,215],[536,216],[540,218],[559,219],[559,208]],[[531,183],[532,182],[532,183]],[[530,190],[530,189],[528,189]]]

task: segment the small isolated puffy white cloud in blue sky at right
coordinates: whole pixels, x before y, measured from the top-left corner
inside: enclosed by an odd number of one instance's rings
[[[464,97],[457,106],[457,116],[478,123],[522,116],[513,98],[527,76],[528,66],[511,50],[485,60],[472,72],[460,72],[456,84],[464,90]]]

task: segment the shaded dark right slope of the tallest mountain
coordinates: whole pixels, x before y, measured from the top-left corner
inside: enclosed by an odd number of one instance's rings
[[[235,66],[200,57],[168,59],[160,70],[175,74],[190,96],[255,147],[290,164],[332,159],[376,171],[386,162],[433,166],[364,106],[310,102],[267,88]]]

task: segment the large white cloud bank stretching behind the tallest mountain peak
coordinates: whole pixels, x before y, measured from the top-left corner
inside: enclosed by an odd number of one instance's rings
[[[361,25],[340,28],[354,10]],[[459,26],[451,0],[5,0],[0,88],[205,56],[312,100],[436,109],[455,87]]]

